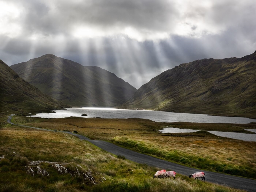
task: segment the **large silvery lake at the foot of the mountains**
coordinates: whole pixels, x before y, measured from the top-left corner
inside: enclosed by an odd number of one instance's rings
[[[101,117],[101,118],[142,118],[150,119],[156,122],[192,122],[192,123],[239,123],[247,124],[256,122],[255,119],[243,117],[221,117],[209,116],[203,114],[191,113],[173,113],[164,111],[149,111],[149,110],[128,110],[128,109],[115,109],[115,108],[67,108],[65,110],[56,110],[56,113],[39,113],[31,117],[44,117],[44,118],[64,118],[64,117]],[[87,114],[88,116],[81,116]]]

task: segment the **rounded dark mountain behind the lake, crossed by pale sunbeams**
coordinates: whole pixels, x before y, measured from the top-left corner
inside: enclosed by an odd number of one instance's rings
[[[136,88],[100,67],[46,54],[11,68],[41,92],[73,106],[114,107],[130,99]]]

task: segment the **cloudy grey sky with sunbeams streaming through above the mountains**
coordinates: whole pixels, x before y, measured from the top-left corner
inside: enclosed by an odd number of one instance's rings
[[[139,88],[193,60],[256,50],[255,0],[0,0],[0,59],[54,54]]]

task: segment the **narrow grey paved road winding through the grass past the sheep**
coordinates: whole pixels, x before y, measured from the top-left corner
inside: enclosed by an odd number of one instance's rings
[[[10,124],[13,124],[13,125],[18,125],[18,124],[14,124],[11,122],[12,116],[13,115],[8,117],[7,122]],[[30,127],[30,126],[26,126],[26,125],[18,125],[18,126],[34,128],[34,129],[43,130],[43,131],[56,132],[53,130]],[[57,131],[57,132],[59,132],[59,131]],[[129,159],[129,160],[137,162],[137,163],[159,167],[160,169],[172,170],[172,171],[175,171],[175,172],[183,174],[183,175],[189,175],[191,173],[202,171],[202,170],[198,170],[198,169],[189,168],[189,167],[186,167],[183,165],[171,163],[168,161],[164,161],[162,159],[158,159],[158,158],[155,158],[152,156],[144,155],[144,154],[132,151],[130,149],[119,147],[119,146],[117,146],[113,143],[109,143],[107,141],[91,140],[88,137],[85,137],[83,135],[78,135],[73,132],[65,132],[65,133],[74,135],[81,140],[87,140],[105,151],[108,151],[115,155],[125,156],[126,159]],[[229,186],[229,187],[233,187],[233,188],[244,189],[247,191],[255,191],[256,192],[256,180],[245,179],[245,178],[241,178],[241,177],[225,175],[225,174],[215,173],[215,172],[210,172],[210,171],[204,171],[204,173],[205,173],[205,180],[207,180],[209,182],[217,183],[220,185],[225,185],[225,186]],[[152,177],[153,177],[153,175],[152,175]]]

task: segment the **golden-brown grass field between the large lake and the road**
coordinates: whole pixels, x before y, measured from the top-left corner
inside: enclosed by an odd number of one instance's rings
[[[125,148],[199,169],[256,179],[256,143],[208,132],[162,134],[166,126],[199,130],[242,132],[255,124],[156,123],[145,119],[18,117],[15,123],[56,130],[77,131],[91,139],[108,140]]]

